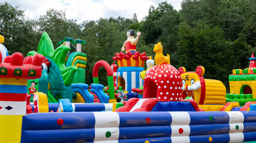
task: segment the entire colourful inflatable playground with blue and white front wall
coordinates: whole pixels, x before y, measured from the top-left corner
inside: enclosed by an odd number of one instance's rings
[[[204,79],[203,66],[176,69],[161,42],[152,58],[136,51],[140,32],[127,36],[114,63],[94,65],[91,85],[85,41],[64,38],[54,48],[44,32],[38,51],[23,57],[8,55],[0,36],[0,142],[256,141],[254,54],[248,69],[229,75],[227,94],[221,81]]]

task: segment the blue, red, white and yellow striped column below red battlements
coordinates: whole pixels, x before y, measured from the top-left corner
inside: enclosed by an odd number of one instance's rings
[[[0,80],[0,140],[20,142],[22,116],[26,114],[27,79]]]

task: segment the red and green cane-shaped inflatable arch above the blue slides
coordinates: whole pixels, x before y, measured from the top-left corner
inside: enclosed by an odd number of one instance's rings
[[[95,64],[94,70],[92,71],[94,83],[99,83],[98,70],[100,69],[101,66],[104,67],[104,69],[107,71],[107,82],[109,85],[109,97],[110,97],[109,102],[116,102],[113,73],[112,73],[111,67],[106,61],[100,60],[100,61],[97,61],[97,63]]]

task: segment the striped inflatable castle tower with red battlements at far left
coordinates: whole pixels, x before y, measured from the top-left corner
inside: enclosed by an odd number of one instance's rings
[[[3,41],[2,38],[0,41]],[[2,42],[1,42],[2,43]],[[0,43],[0,45],[1,45]],[[23,55],[1,54],[0,51],[0,139],[20,142],[22,116],[26,114],[28,79],[41,77],[43,55],[36,54],[29,64],[23,64]],[[4,61],[2,61],[2,57]]]

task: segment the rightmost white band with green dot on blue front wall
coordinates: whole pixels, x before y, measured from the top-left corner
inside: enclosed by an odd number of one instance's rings
[[[227,113],[230,117],[230,142],[243,142],[243,113],[240,111],[228,111]]]

